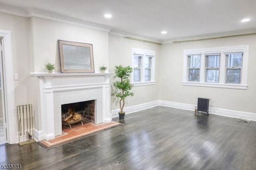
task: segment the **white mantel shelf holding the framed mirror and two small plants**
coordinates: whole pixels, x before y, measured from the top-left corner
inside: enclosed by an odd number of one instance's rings
[[[32,77],[62,78],[62,77],[101,77],[111,76],[114,73],[30,73]]]

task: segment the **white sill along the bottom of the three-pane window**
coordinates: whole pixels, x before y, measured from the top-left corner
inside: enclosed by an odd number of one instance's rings
[[[216,88],[226,88],[226,89],[242,89],[242,90],[247,89],[247,85],[240,85],[240,84],[182,82],[182,85],[199,86],[199,87],[216,87]]]

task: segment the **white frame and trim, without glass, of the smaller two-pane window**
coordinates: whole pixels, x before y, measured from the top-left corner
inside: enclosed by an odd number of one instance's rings
[[[131,83],[136,86],[144,86],[144,85],[154,85],[155,84],[155,51],[148,50],[148,49],[140,49],[140,48],[132,48],[132,68],[134,63],[134,53],[141,54],[144,57],[146,55],[152,56],[151,58],[151,81],[144,81],[144,66],[141,68],[142,75],[140,82],[134,82],[134,74],[132,73],[131,76]],[[144,58],[142,59],[142,65],[144,64]]]

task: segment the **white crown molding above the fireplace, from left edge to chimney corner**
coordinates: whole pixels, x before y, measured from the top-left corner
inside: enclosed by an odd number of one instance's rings
[[[78,19],[78,18],[65,16],[65,15],[50,12],[47,10],[40,10],[38,8],[21,8],[17,6],[10,6],[8,4],[0,3],[0,12],[12,14],[16,16],[27,17],[27,18],[35,16],[38,18],[44,18],[44,19],[53,20],[57,22],[63,22],[66,24],[72,24],[75,26],[81,26],[81,27],[104,31],[104,32],[110,32],[110,30],[112,29],[110,26],[106,26],[103,24],[97,24],[94,22],[89,22],[89,21]]]

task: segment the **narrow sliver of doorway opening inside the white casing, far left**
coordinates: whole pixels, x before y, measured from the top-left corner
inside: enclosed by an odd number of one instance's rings
[[[4,79],[3,79],[3,52],[2,52],[3,40],[0,38],[0,144],[7,142],[6,138],[6,119],[4,111]]]

